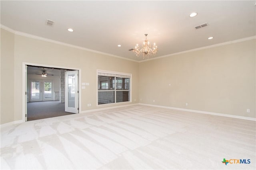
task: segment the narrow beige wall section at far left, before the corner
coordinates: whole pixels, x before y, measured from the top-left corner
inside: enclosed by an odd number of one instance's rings
[[[14,121],[14,34],[1,29],[1,121]]]

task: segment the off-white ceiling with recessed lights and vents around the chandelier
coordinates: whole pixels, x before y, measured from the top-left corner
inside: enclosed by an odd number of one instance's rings
[[[190,18],[189,14],[198,15]],[[45,24],[46,19],[54,26]],[[197,25],[208,26],[195,29]],[[4,1],[1,25],[126,59],[145,39],[155,57],[256,35],[255,1]],[[74,32],[67,31],[68,28]],[[208,40],[213,36],[214,39]],[[122,47],[117,47],[117,45]]]

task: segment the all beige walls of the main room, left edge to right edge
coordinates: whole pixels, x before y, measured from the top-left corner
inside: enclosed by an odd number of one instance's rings
[[[254,39],[137,63],[1,29],[0,123],[22,120],[22,62],[80,68],[82,82],[90,83],[82,111],[97,108],[100,69],[132,74],[132,103],[255,117],[255,56]]]

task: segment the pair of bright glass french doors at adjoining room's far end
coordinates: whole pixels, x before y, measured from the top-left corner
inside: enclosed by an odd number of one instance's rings
[[[54,100],[52,80],[31,80],[30,102],[40,102],[49,100]]]

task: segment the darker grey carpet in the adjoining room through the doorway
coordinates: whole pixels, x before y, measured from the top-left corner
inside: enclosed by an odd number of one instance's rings
[[[27,103],[28,121],[70,114],[73,113],[65,112],[65,103],[59,101]]]

